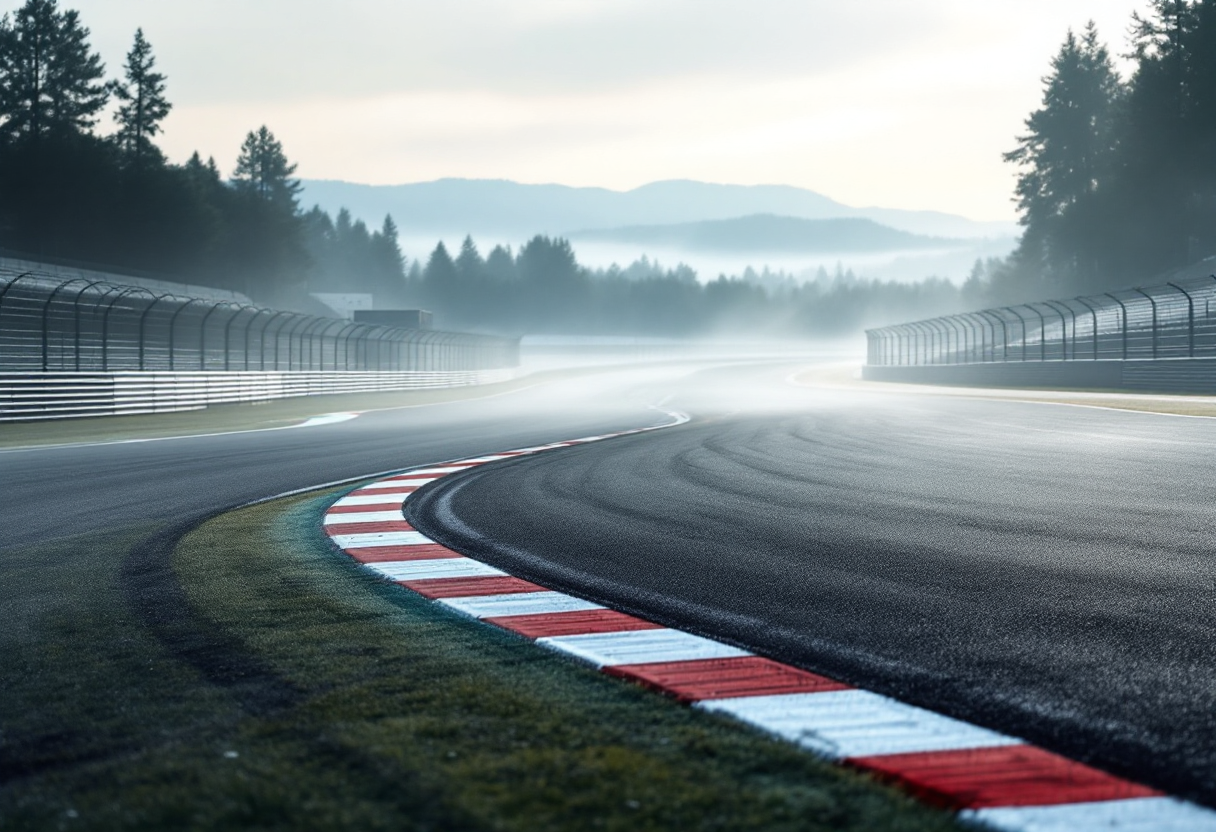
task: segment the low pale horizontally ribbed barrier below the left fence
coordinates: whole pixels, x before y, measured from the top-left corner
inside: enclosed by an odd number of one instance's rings
[[[452,372],[0,372],[0,422],[201,410],[328,393],[377,393],[513,378],[517,370]]]

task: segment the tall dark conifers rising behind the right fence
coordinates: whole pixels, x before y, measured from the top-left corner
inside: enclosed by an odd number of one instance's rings
[[[993,303],[1096,293],[1216,255],[1216,0],[1153,0],[1126,79],[1090,23],[1069,32],[1006,159],[1025,227],[985,264]]]

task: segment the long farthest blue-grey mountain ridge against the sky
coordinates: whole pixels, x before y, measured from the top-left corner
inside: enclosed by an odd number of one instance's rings
[[[652,182],[631,191],[508,180],[440,179],[410,185],[356,185],[305,180],[302,204],[320,204],[378,225],[392,214],[402,234],[492,236],[570,235],[581,229],[672,225],[756,214],[793,219],[869,219],[889,229],[933,237],[996,238],[1018,234],[1012,223],[978,223],[938,212],[852,208],[787,185]]]

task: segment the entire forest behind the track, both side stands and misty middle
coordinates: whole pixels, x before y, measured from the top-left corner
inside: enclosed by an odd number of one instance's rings
[[[1147,283],[1216,254],[1216,0],[1154,0],[1131,30],[1126,79],[1092,24],[1053,58],[1042,106],[1006,154],[1025,229],[1009,258],[976,263],[962,285],[840,270],[710,280],[644,258],[589,269],[545,236],[485,254],[466,238],[407,262],[392,217],[370,229],[303,208],[297,165],[265,125],[231,172],[201,152],[167,159],[169,84],[142,30],[107,77],[77,11],[26,0],[0,18],[0,249],[283,308],[310,308],[310,292],[368,293],[377,308],[430,309],[439,326],[506,333],[835,337]]]

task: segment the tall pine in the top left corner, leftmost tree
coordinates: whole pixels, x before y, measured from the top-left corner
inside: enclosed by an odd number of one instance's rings
[[[75,11],[27,0],[0,18],[0,131],[40,141],[90,130],[108,97],[103,74]]]

